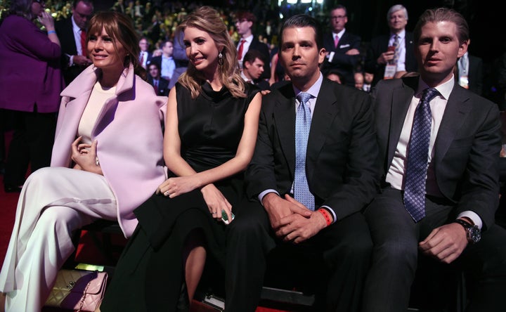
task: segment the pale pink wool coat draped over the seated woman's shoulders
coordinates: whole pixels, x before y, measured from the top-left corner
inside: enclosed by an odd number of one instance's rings
[[[51,167],[70,167],[70,145],[99,74],[100,70],[91,65],[61,93]],[[153,86],[134,74],[133,67],[126,68],[116,95],[105,101],[91,131],[126,238],[137,226],[133,210],[166,178],[162,134],[166,103],[167,97],[156,96]]]

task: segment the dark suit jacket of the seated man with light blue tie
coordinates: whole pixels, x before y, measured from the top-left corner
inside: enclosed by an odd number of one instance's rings
[[[262,100],[259,133],[247,167],[247,195],[267,189],[290,193],[295,170],[295,95],[292,84]],[[377,145],[370,96],[323,79],[311,121],[306,176],[316,207],[337,219],[365,207],[376,193]]]

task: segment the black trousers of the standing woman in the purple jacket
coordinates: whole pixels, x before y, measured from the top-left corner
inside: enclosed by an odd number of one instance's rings
[[[4,184],[21,186],[29,164],[32,172],[51,164],[56,113],[37,112],[37,108],[34,112],[6,112],[13,118],[14,132],[8,148]]]

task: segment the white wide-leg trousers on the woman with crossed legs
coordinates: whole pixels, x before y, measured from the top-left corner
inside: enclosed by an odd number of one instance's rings
[[[72,232],[96,219],[117,220],[115,195],[103,176],[46,167],[27,178],[0,272],[6,311],[41,311],[74,252]]]

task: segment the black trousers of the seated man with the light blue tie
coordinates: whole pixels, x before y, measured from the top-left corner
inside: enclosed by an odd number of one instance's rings
[[[370,265],[372,242],[361,213],[324,228],[300,245],[287,246],[275,238],[264,207],[259,202],[247,202],[227,228],[226,310],[254,311],[264,284],[266,259],[273,249],[293,248],[319,250],[323,268],[318,263],[299,266],[299,271],[311,275],[325,271],[320,285],[325,290],[324,302],[316,302],[316,311],[360,311],[365,274]],[[299,253],[300,254],[300,253]],[[287,252],[287,264],[297,259]],[[275,277],[274,277],[275,278]],[[317,297],[318,299],[318,297]]]

